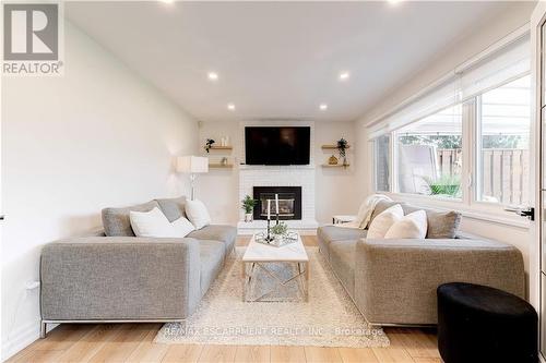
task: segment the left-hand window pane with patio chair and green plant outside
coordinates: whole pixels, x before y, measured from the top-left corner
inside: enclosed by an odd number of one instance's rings
[[[397,192],[461,198],[461,105],[411,123],[394,134]]]

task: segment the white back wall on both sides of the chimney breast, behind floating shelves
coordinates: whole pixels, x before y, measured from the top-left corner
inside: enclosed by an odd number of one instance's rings
[[[214,222],[235,225],[239,221],[238,201],[238,169],[241,162],[241,131],[238,122],[202,122],[199,130],[200,145],[204,145],[206,138],[213,138],[219,145],[221,137],[229,136],[234,146],[232,153],[212,150],[207,156],[213,161],[228,156],[230,162],[235,162],[234,169],[211,169],[198,181],[198,197],[207,206]],[[347,153],[352,166],[347,169],[323,169],[332,153],[324,153],[322,144],[335,144],[341,137],[345,137],[354,146],[355,141],[354,122],[314,122],[314,145],[312,145],[313,162],[316,170],[316,209],[319,223],[331,222],[335,214],[356,214],[359,202],[354,198],[355,187],[355,162],[354,147]],[[202,147],[201,147],[202,149]],[[204,152],[202,152],[204,153]],[[206,155],[204,153],[203,155]],[[244,161],[244,160],[242,160]]]

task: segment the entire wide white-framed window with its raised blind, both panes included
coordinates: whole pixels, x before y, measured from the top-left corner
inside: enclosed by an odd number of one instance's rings
[[[499,215],[529,205],[530,44],[510,34],[369,120],[376,191]]]

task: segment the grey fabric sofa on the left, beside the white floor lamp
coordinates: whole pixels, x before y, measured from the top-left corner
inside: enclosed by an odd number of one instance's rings
[[[237,229],[206,226],[181,239],[136,238],[130,210],[161,210],[173,221],[186,197],[103,210],[104,233],[45,245],[41,335],[49,323],[181,322],[234,251]]]

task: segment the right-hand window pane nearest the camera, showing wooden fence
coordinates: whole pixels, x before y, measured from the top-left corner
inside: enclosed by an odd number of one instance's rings
[[[477,102],[477,199],[525,205],[529,201],[531,76],[486,92]]]

